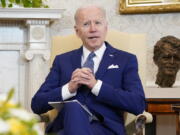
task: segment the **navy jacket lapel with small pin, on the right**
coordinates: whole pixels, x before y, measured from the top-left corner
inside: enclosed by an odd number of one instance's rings
[[[99,64],[98,71],[96,72],[96,79],[102,78],[102,76],[107,71],[108,66],[113,63],[113,60],[115,58],[115,49],[109,43],[107,42],[105,43],[106,43],[106,50]]]

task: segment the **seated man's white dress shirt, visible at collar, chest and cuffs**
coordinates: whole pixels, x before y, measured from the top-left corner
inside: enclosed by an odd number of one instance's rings
[[[101,59],[103,57],[103,54],[104,54],[105,50],[106,50],[106,46],[105,46],[105,43],[103,43],[103,45],[98,50],[94,51],[94,53],[96,54],[96,56],[93,57],[93,61],[94,61],[94,74],[98,70],[99,64],[101,62]],[[87,57],[88,57],[88,55],[90,53],[91,52],[85,46],[83,46],[83,55],[81,57],[81,66],[85,63],[85,61],[86,61],[86,59],[87,59]],[[98,96],[100,88],[101,88],[101,85],[102,85],[102,81],[101,80],[97,80],[97,83],[92,88],[91,92],[94,95]],[[63,100],[69,99],[69,98],[71,98],[71,97],[73,97],[75,95],[76,95],[76,92],[75,93],[70,93],[69,92],[68,83],[65,84],[62,87],[62,98],[63,98]]]

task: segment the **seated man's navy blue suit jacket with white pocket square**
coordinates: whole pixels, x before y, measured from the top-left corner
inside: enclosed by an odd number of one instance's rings
[[[62,86],[70,81],[76,68],[81,68],[81,56],[82,47],[56,56],[45,82],[32,99],[31,107],[35,113],[42,114],[51,110],[48,101],[62,101]],[[118,65],[118,68],[108,69],[110,65]],[[103,82],[98,96],[91,92],[84,96],[78,90],[77,95],[71,99],[86,104],[92,112],[102,116],[102,122],[107,128],[117,135],[123,135],[123,112],[137,115],[145,109],[136,56],[115,49],[106,42],[106,50],[95,77]],[[50,127],[59,130],[58,122],[60,120],[56,119]]]

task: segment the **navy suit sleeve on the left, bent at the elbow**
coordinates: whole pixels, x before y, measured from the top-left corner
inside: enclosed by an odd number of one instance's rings
[[[51,71],[49,72],[45,82],[41,85],[40,89],[34,95],[31,101],[31,108],[34,113],[41,114],[52,107],[48,105],[49,101],[61,101],[61,88],[60,80],[60,69],[58,68],[58,59],[55,58]]]

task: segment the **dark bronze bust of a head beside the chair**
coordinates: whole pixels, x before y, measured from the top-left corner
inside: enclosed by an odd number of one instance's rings
[[[172,87],[180,69],[180,39],[162,37],[154,46],[153,60],[158,66],[155,83],[163,88]]]

